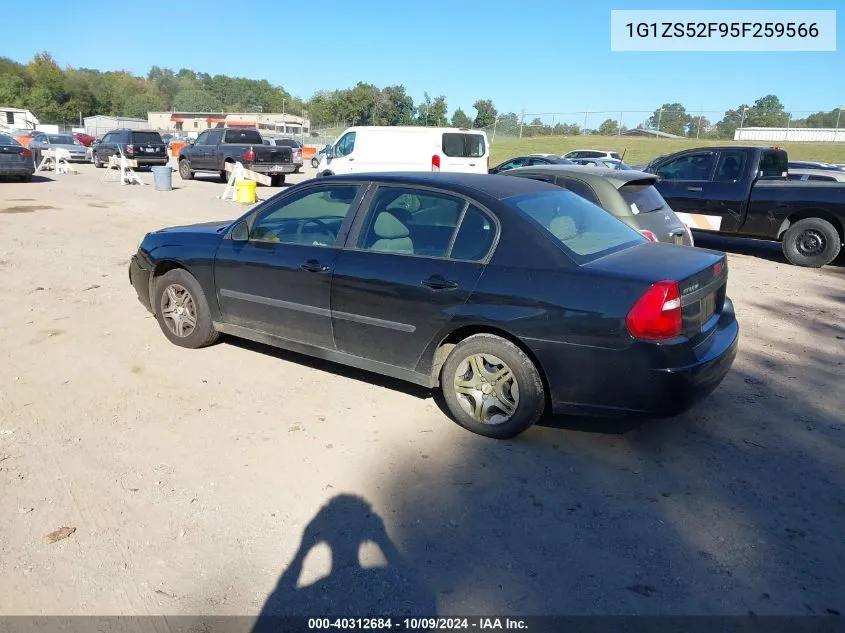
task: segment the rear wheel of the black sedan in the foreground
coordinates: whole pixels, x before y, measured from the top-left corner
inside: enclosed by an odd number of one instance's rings
[[[495,439],[519,435],[546,408],[537,367],[519,347],[493,334],[475,334],[455,346],[441,369],[440,388],[455,422]]]

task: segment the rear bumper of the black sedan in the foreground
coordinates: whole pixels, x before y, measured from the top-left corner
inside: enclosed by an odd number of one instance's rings
[[[706,340],[695,347],[686,343],[683,354],[667,349],[670,345],[648,343],[624,350],[535,344],[532,349],[546,373],[555,413],[671,417],[722,382],[736,358],[739,324],[726,298]]]

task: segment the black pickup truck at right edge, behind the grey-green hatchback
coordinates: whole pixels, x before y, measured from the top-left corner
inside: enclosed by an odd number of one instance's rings
[[[702,147],[661,156],[646,168],[693,230],[777,240],[797,266],[820,267],[845,240],[845,183],[787,179],[777,147]]]

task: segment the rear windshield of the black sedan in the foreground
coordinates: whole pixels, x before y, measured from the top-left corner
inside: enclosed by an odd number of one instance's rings
[[[523,194],[505,202],[552,236],[577,264],[645,241],[601,207],[565,189]]]

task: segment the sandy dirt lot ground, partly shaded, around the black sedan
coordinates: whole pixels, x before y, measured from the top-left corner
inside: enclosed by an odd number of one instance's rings
[[[701,240],[742,328],[723,385],[501,442],[397,381],[171,345],[130,255],[244,209],[81,171],[0,183],[0,614],[845,615],[845,268]]]

